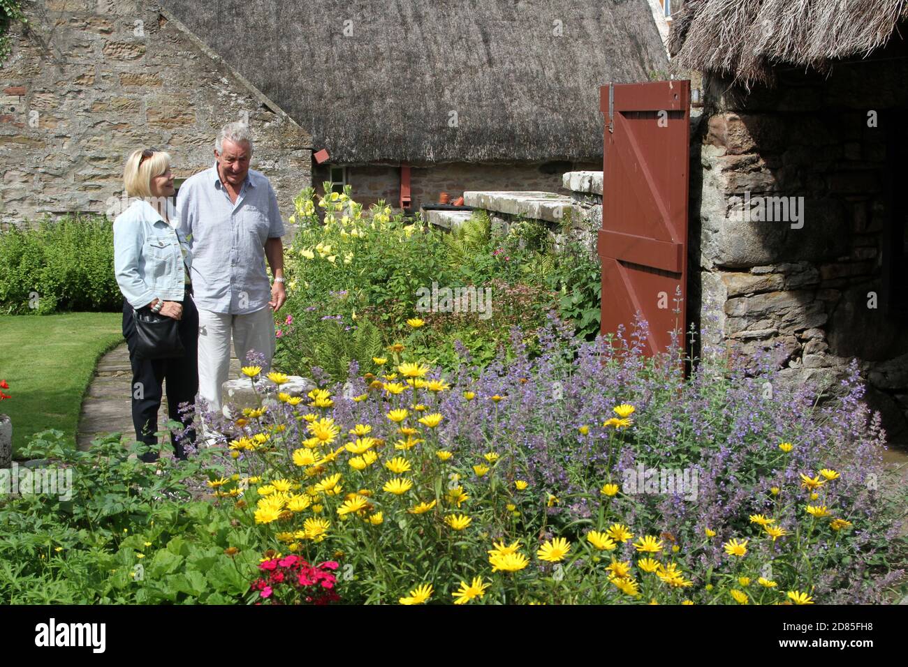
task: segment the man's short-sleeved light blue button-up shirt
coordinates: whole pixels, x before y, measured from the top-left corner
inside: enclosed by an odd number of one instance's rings
[[[242,315],[271,300],[265,242],[284,234],[277,195],[262,172],[249,170],[236,203],[217,163],[186,179],[177,193],[180,231],[192,249],[193,300],[200,309]]]

